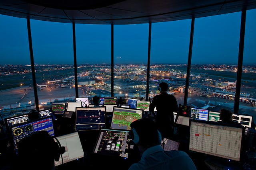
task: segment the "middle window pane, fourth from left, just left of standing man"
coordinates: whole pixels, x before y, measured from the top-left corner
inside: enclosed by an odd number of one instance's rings
[[[147,61],[148,24],[114,25],[114,96],[146,97]]]

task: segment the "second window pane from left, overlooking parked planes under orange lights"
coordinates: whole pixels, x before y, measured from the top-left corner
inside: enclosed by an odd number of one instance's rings
[[[30,22],[39,108],[75,101],[72,24]]]

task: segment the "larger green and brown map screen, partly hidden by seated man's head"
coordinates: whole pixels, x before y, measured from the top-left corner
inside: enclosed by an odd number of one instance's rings
[[[125,107],[114,107],[110,128],[130,130],[130,124],[142,118],[143,110]]]

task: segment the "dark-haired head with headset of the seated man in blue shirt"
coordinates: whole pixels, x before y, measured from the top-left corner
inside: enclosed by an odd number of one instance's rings
[[[130,124],[131,136],[137,145],[145,149],[161,144],[161,134],[150,118],[138,119]]]

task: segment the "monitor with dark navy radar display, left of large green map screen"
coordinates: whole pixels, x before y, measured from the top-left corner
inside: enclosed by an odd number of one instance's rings
[[[76,131],[100,130],[105,127],[106,107],[76,107]]]

